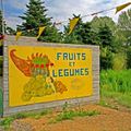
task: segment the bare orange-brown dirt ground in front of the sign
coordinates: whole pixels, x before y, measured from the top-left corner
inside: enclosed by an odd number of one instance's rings
[[[116,110],[98,105],[83,106],[86,110],[98,110],[100,115],[79,117],[49,123],[52,115],[40,119],[22,119],[12,123],[12,131],[131,131],[131,111]]]

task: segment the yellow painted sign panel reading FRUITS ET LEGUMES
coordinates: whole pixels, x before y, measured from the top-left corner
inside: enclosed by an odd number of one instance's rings
[[[9,46],[9,106],[92,95],[92,50]]]

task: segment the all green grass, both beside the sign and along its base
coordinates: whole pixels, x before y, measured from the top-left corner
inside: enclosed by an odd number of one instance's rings
[[[131,108],[131,70],[123,71],[102,71],[100,72],[100,105],[117,109],[115,105],[109,105],[107,99],[114,99],[120,105]],[[39,112],[17,114],[0,121],[0,126],[9,128],[15,119],[34,118],[51,114],[52,110],[43,110]],[[96,110],[69,110],[69,105],[63,105],[62,111],[55,118],[50,119],[49,123],[55,123],[63,120],[72,120],[75,117],[97,116],[100,112]]]

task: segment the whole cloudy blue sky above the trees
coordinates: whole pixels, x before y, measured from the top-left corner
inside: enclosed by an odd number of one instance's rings
[[[29,0],[3,0],[4,19],[9,26],[16,28],[21,25],[22,20],[19,17],[26,12],[26,4]],[[86,15],[100,10],[106,10],[120,5],[131,0],[41,0],[45,1],[45,7],[48,9],[47,14],[52,19],[52,22],[68,21],[72,14]],[[1,7],[0,7],[1,8]],[[131,8],[131,5],[129,7]],[[124,9],[128,10],[129,8]],[[98,16],[110,16],[115,22],[118,21],[120,13],[115,14],[116,10],[98,14]],[[91,21],[93,16],[84,17],[83,21]]]

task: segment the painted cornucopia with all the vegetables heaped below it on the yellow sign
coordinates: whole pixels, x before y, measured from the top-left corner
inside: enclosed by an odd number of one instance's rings
[[[15,49],[10,51],[13,63],[25,76],[31,78],[23,87],[21,96],[23,102],[29,102],[32,97],[62,94],[68,91],[61,81],[55,81],[50,76],[49,67],[52,67],[53,63],[50,62],[48,56],[36,52],[25,60],[17,57],[15,51]]]

